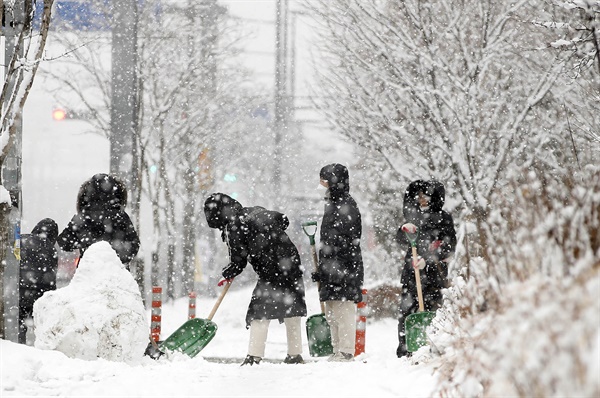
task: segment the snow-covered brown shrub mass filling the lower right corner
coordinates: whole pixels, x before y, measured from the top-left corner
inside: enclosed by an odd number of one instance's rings
[[[600,171],[532,168],[492,215],[492,264],[459,230],[453,283],[428,336],[441,395],[597,396]]]

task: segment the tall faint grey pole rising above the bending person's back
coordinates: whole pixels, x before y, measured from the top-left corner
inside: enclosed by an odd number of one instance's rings
[[[277,0],[275,11],[275,119],[273,149],[273,193],[275,207],[281,206],[282,149],[288,129],[287,78],[287,19],[288,0]]]

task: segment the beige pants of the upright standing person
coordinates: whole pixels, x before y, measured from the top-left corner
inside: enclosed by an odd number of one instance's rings
[[[353,301],[325,301],[325,318],[331,328],[333,353],[354,355],[356,304]]]

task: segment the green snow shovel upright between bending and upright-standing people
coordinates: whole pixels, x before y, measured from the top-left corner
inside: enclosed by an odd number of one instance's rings
[[[307,230],[309,227],[315,227],[313,233],[309,233]],[[312,252],[315,271],[319,272],[319,260],[317,259],[317,249],[315,248],[317,222],[309,221],[302,224],[302,230],[310,241],[310,250]],[[317,292],[319,290],[320,283],[317,282]],[[325,304],[323,302],[321,302],[321,313],[311,315],[306,319],[306,335],[308,337],[308,351],[311,357],[324,357],[333,354],[331,329],[325,319]]]

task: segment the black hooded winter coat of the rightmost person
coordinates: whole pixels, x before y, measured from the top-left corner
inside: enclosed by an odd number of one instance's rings
[[[430,197],[429,209],[420,208],[417,201],[419,191]],[[414,181],[408,186],[404,195],[405,222],[417,226],[417,253],[426,263],[425,269],[420,271],[420,276],[425,310],[428,311],[435,310],[441,303],[441,289],[446,287],[448,279],[448,265],[442,260],[447,260],[456,248],[454,221],[448,212],[442,210],[444,200],[444,186],[437,181]],[[396,240],[406,250],[402,285],[405,295],[409,297],[405,299],[414,303],[412,307],[418,306],[411,244],[401,228],[398,229]],[[431,244],[436,241],[439,246],[431,247]]]

